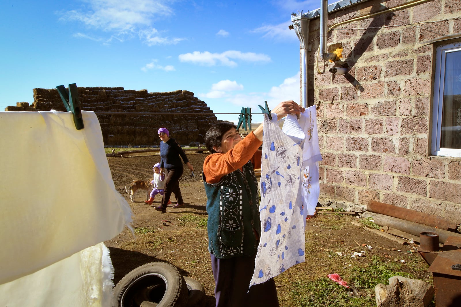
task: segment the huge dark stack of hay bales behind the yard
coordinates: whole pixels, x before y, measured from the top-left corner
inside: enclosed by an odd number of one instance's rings
[[[147,90],[125,90],[123,87],[78,87],[78,98],[82,110],[125,113],[96,113],[105,145],[158,145],[160,140],[157,131],[160,127],[166,127],[171,137],[181,145],[189,145],[190,142],[203,144],[207,129],[220,122],[213,110],[189,91],[148,93]],[[57,89],[34,88],[34,103],[31,106],[21,102],[6,108],[7,111],[51,109],[66,111]],[[129,112],[175,114],[130,115]]]

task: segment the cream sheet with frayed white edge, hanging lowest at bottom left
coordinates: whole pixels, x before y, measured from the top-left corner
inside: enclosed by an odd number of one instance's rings
[[[109,307],[113,266],[104,243],[0,284],[0,306]]]

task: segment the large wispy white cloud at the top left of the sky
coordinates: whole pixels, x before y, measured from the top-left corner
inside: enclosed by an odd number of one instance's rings
[[[124,41],[138,35],[148,46],[177,44],[181,38],[162,37],[156,29],[150,28],[154,20],[173,15],[166,0],[83,0],[87,5],[82,9],[61,12],[59,20],[77,21],[91,29],[112,32],[112,39]],[[91,39],[91,35],[80,37]]]

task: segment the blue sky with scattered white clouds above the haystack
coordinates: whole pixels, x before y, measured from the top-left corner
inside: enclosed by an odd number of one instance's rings
[[[299,40],[288,29],[290,15],[319,6],[320,0],[3,0],[0,110],[32,103],[33,88],[70,83],[188,90],[215,113],[261,113],[265,100],[270,107],[299,102]]]

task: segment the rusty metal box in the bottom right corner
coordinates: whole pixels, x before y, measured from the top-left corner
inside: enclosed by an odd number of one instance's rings
[[[461,237],[448,237],[442,251],[429,266],[434,279],[437,307],[461,306],[461,271],[454,270],[461,260]]]

